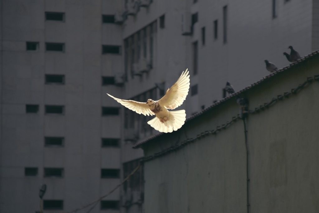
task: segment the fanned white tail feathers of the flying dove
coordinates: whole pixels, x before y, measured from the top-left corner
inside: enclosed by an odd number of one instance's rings
[[[177,110],[169,111],[169,119],[167,121],[164,121],[163,123],[160,122],[159,118],[157,117],[153,118],[147,123],[159,132],[171,133],[173,132],[173,130],[176,131],[181,128],[185,123],[185,120],[185,110]]]

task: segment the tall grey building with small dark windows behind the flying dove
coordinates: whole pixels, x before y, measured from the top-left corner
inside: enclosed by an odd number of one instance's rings
[[[315,0],[0,0],[0,212],[70,210],[106,194],[156,134],[106,93],[158,99],[189,68],[191,116],[319,49]],[[91,212],[143,212],[143,170]]]

